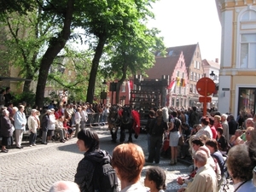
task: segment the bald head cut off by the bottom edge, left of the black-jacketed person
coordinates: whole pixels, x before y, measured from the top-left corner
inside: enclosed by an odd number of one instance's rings
[[[80,192],[77,183],[71,181],[58,181],[53,183],[49,192]]]

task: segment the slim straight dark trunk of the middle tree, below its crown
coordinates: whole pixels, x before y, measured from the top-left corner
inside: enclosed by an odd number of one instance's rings
[[[106,40],[107,38],[105,37],[105,35],[102,35],[102,38],[99,38],[99,42],[96,47],[96,53],[92,60],[92,65],[90,69],[90,78],[89,78],[89,84],[88,84],[87,96],[86,96],[86,101],[89,102],[90,104],[93,103],[95,84],[96,84],[96,75],[98,72],[99,62],[102,57],[102,52],[103,52],[103,48],[106,43]]]

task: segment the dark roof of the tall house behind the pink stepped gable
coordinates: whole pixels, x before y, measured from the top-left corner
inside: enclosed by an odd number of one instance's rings
[[[170,51],[173,52],[183,52],[184,55],[184,61],[186,67],[190,67],[192,58],[195,54],[197,44],[189,44],[189,45],[183,45],[183,46],[177,46],[177,47],[169,47],[166,49],[167,55],[170,53]]]

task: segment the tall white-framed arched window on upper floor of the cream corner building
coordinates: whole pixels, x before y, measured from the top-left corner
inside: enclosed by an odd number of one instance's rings
[[[250,6],[241,11],[237,22],[237,68],[256,68],[256,11]]]

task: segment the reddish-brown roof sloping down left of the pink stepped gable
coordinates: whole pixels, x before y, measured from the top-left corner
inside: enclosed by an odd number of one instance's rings
[[[154,67],[145,72],[148,78],[144,79],[161,79],[162,75],[172,76],[179,57],[180,55],[155,58]]]

